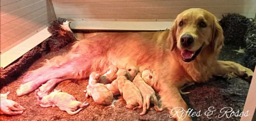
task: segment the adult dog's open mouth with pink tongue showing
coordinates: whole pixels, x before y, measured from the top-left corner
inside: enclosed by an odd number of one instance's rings
[[[189,51],[189,50],[187,50],[187,49],[182,50],[182,51],[181,51],[182,60],[183,60],[184,62],[190,62],[190,61],[194,60],[194,59],[197,57],[197,55],[201,52],[202,47],[203,47],[203,46],[201,46],[200,49],[198,49],[198,50],[195,51],[195,52]]]

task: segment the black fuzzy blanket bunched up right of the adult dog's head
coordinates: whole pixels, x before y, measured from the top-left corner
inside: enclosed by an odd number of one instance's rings
[[[243,49],[241,64],[254,70],[256,65],[256,23],[240,14],[227,14],[220,21],[224,30],[225,46]]]

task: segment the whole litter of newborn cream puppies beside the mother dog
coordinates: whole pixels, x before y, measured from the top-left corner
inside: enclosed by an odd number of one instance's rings
[[[144,74],[145,72],[150,72]],[[85,98],[90,96],[94,102],[100,105],[111,105],[114,103],[114,96],[121,95],[126,101],[126,108],[137,109],[142,108],[140,115],[145,115],[150,103],[154,104],[154,109],[158,112],[162,111],[159,108],[159,102],[156,98],[154,89],[148,85],[152,84],[151,77],[153,76],[150,70],[141,72],[135,66],[129,69],[117,69],[115,66],[109,66],[109,70],[101,75],[101,72],[92,72],[89,76],[89,82],[86,86]],[[142,77],[143,78],[142,78]],[[42,84],[35,90],[35,96],[38,104],[41,107],[58,107],[62,111],[66,111],[69,115],[76,115],[82,109],[88,107],[88,103],[77,101],[76,98],[61,89],[54,89],[55,82],[58,79],[52,79],[45,84]],[[105,83],[105,84],[102,84]],[[54,90],[53,90],[54,89]],[[53,90],[53,92],[51,92]],[[20,115],[25,108],[15,101],[8,100],[7,95],[10,92],[1,94],[1,110],[0,114]],[[49,94],[48,94],[49,93]]]

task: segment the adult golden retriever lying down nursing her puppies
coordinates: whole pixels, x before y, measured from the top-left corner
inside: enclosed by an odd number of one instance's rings
[[[41,84],[58,78],[88,78],[91,72],[104,72],[109,65],[118,69],[136,66],[139,72],[150,69],[153,89],[162,106],[178,121],[191,121],[180,108],[188,109],[179,88],[191,82],[206,82],[212,76],[251,80],[253,71],[231,61],[218,60],[224,35],[217,18],[204,9],[180,13],[171,29],[161,32],[102,32],[77,41],[67,54],[28,72],[17,90],[22,96]]]

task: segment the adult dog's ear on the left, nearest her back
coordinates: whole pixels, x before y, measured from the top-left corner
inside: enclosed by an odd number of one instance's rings
[[[168,39],[170,40],[170,45],[171,45],[171,51],[174,50],[174,46],[176,45],[176,29],[177,29],[177,20],[174,20],[173,25],[171,26],[170,29],[170,34]]]

